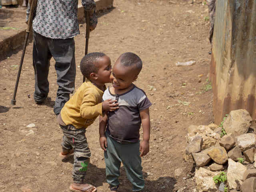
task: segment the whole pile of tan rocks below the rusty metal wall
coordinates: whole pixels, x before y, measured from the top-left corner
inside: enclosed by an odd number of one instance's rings
[[[234,110],[222,122],[222,127],[189,126],[186,156],[192,156],[196,164],[197,192],[224,192],[223,186],[213,180],[222,171],[226,172],[225,185],[229,191],[255,192],[256,135],[251,123],[246,110]],[[226,135],[221,137],[223,129]]]

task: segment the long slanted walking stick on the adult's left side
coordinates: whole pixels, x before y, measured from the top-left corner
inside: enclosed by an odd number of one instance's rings
[[[22,68],[22,64],[23,64],[23,60],[24,60],[24,55],[25,55],[25,51],[26,51],[26,46],[28,43],[28,35],[32,26],[32,22],[33,22],[33,14],[34,14],[34,8],[36,7],[36,3],[37,0],[29,0],[29,4],[30,4],[30,13],[29,13],[29,17],[28,17],[28,26],[26,29],[26,35],[25,35],[25,40],[24,40],[24,44],[23,44],[23,51],[22,51],[22,55],[20,58],[20,67],[18,70],[18,75],[17,75],[17,79],[16,79],[16,84],[15,84],[15,88],[14,88],[14,92],[13,92],[13,98],[11,100],[11,104],[12,105],[16,105],[16,93],[17,93],[17,89],[18,89],[18,84],[19,84],[19,80],[20,80],[20,72],[21,72],[21,68]]]

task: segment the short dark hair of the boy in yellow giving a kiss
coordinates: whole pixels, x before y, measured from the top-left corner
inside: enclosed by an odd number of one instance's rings
[[[95,62],[103,56],[106,55],[100,52],[93,52],[84,56],[80,62],[80,70],[83,76],[89,79],[91,73],[97,73],[99,68],[95,65]]]

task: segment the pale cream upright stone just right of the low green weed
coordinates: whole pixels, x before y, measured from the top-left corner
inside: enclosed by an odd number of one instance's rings
[[[237,182],[241,185],[246,166],[228,159],[227,184],[229,189],[236,189]]]

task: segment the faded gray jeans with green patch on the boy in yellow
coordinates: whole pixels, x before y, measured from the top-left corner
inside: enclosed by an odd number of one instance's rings
[[[62,148],[69,151],[74,148],[73,181],[84,183],[86,170],[90,162],[91,152],[85,136],[86,130],[76,129],[73,125],[62,126],[63,131]]]

